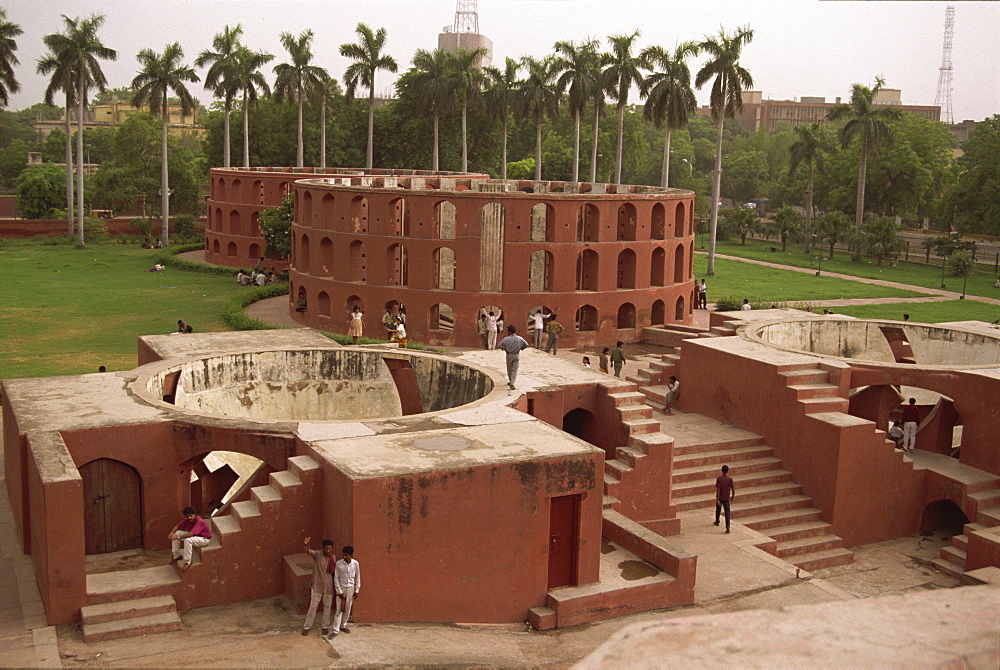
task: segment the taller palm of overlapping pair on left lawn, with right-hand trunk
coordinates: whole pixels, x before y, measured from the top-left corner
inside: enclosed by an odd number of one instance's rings
[[[52,33],[44,38],[45,46],[49,48],[49,57],[43,59],[47,72],[52,72],[50,87],[56,85],[53,91],[72,89],[70,98],[76,103],[76,156],[83,164],[83,107],[87,102],[87,91],[96,88],[103,91],[107,88],[107,80],[101,70],[100,60],[115,60],[118,52],[104,46],[97,36],[98,29],[104,24],[104,17],[94,14],[86,19],[71,19],[63,16],[66,32]],[[50,60],[51,58],[51,60]],[[39,63],[41,66],[41,63]],[[70,79],[75,83],[70,84]],[[68,125],[68,124],[67,124]],[[66,162],[66,169],[72,172],[73,161]],[[67,193],[69,189],[67,188]],[[72,197],[72,194],[69,194]],[[76,171],[76,212],[77,212],[77,246],[84,245],[83,239],[83,169]],[[72,232],[71,232],[72,234]]]

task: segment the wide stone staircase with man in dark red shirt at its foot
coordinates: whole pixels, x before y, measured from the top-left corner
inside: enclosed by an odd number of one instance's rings
[[[819,570],[854,561],[844,540],[830,532],[812,499],[802,495],[792,473],[782,467],[760,437],[720,443],[674,445],[673,502],[678,511],[705,509],[714,515],[715,478],[723,464],[736,484],[734,521],[774,539],[775,556]]]

